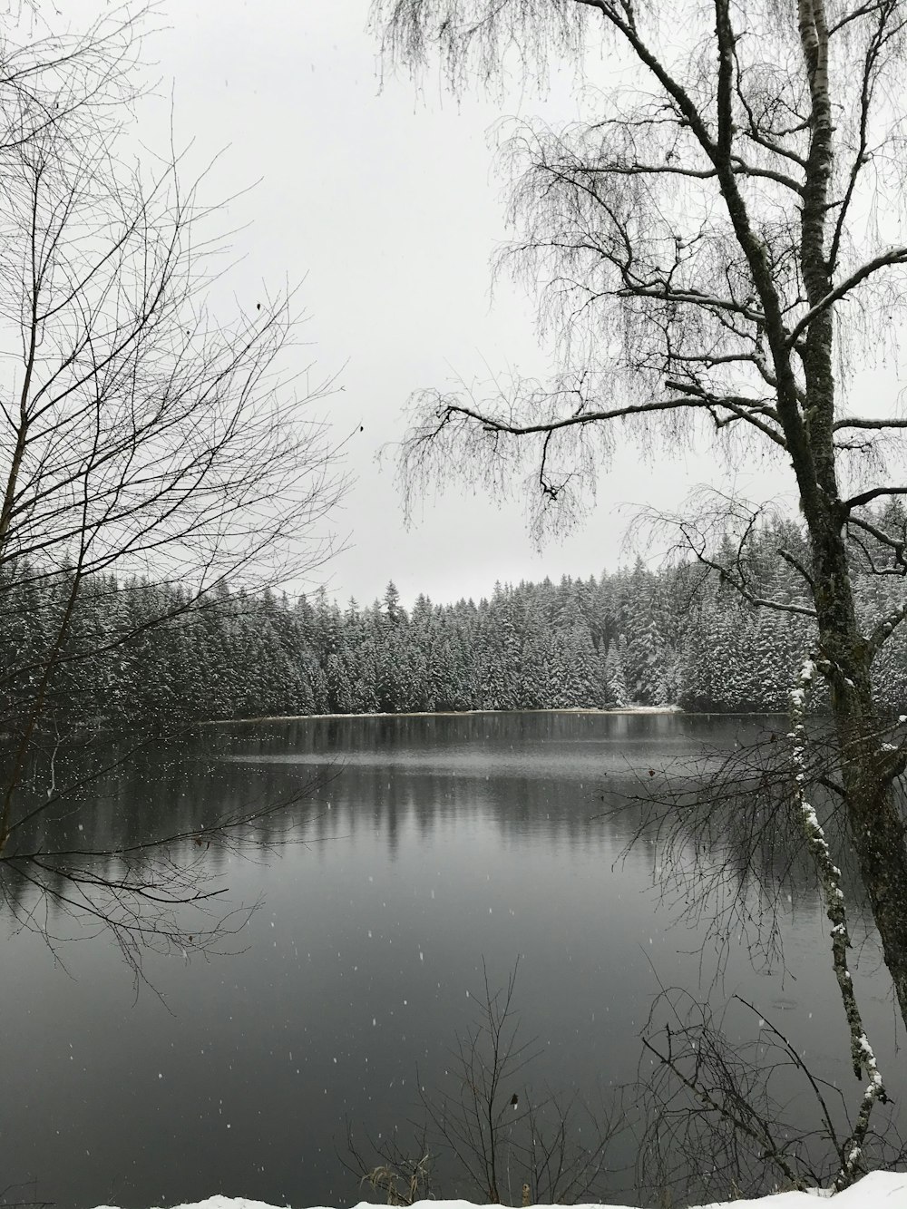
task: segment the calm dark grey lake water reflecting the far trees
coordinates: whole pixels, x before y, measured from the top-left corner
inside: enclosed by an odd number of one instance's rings
[[[60,942],[48,947],[4,916],[0,1203],[148,1207],[224,1192],[353,1204],[366,1193],[341,1163],[345,1120],[363,1141],[405,1127],[416,1068],[426,1087],[441,1084],[457,1031],[475,1023],[483,964],[499,987],[519,960],[533,1088],[607,1103],[636,1076],[659,984],[716,1002],[744,994],[847,1078],[818,896],[802,893],[784,924],[786,974],[753,970],[739,936],[700,955],[701,933],[653,885],[658,846],[643,839],[624,856],[637,815],[601,817],[602,799],[649,769],[733,747],[755,725],[654,715],[236,724],[120,775],[97,809],[62,823],[85,846],[140,828],[137,814],[179,831],[314,774],[322,783],[242,852],[191,850],[229,904],[258,903],[219,954],[148,953],[135,988],[103,931],[70,939],[80,930],[51,913]],[[867,1025],[890,1037],[874,961],[865,939]],[[733,1028],[743,1042],[758,1022]],[[612,1165],[626,1161],[617,1146]],[[616,1170],[614,1197],[631,1184]]]

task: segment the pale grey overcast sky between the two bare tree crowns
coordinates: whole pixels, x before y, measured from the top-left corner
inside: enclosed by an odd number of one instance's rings
[[[336,517],[348,549],[328,588],[368,603],[393,579],[404,601],[449,601],[487,595],[496,579],[614,568],[630,557],[622,538],[634,507],[678,504],[706,463],[647,467],[628,450],[583,530],[541,553],[516,492],[504,503],[449,492],[404,527],[393,450],[376,456],[400,439],[410,392],[547,365],[531,300],[507,288],[491,299],[489,258],[507,231],[486,134],[502,115],[570,118],[573,99],[566,71],[547,102],[514,93],[503,106],[457,106],[431,86],[418,97],[409,79],[381,87],[368,12],[368,0],[164,0],[168,28],[146,53],[162,92],[173,89],[177,144],[195,140],[190,162],[224,150],[206,196],[256,183],[229,213],[244,227],[231,288],[305,279],[306,352],[342,387],[330,422],[337,438],[363,426]],[[149,121],[151,145],[162,112],[168,100]]]

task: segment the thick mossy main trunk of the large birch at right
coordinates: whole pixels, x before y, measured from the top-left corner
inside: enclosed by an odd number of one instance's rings
[[[801,212],[801,266],[807,302],[832,290],[826,255],[834,122],[828,77],[828,23],[824,0],[798,0],[798,29],[810,93],[810,140]],[[834,447],[834,331],[832,307],[804,334],[803,435],[787,423],[788,449],[813,545],[813,597],[819,648],[826,660],[840,776],[854,851],[872,904],[885,964],[907,1024],[907,841],[892,793],[892,768],[879,740],[872,704],[872,652],[860,634],[848,569]]]

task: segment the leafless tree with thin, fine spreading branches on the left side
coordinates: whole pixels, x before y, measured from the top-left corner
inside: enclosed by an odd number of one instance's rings
[[[0,30],[0,625],[23,589],[40,601],[27,608],[21,660],[0,669],[12,702],[0,890],[21,919],[37,918],[23,884],[87,912],[131,959],[149,936],[209,938],[174,910],[215,891],[198,883],[197,851],[173,854],[281,804],[116,852],[35,843],[37,816],[83,802],[139,741],[67,765],[52,708],[62,671],[77,676],[137,627],[204,608],[224,583],[311,572],[329,553],[323,522],[342,490],[327,427],[310,415],[330,382],[297,360],[294,291],[262,289],[225,322],[206,301],[229,250],[218,207],[203,204],[201,181],[185,185],[172,150],[151,172],[133,162],[143,16],[127,7],[85,35],[35,40],[27,10]],[[131,577],[179,584],[177,603],[137,621],[116,598]],[[110,624],[74,641],[89,583],[109,592]]]

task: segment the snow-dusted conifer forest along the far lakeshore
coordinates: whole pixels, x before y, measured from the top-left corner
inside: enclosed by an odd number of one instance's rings
[[[793,527],[750,545],[752,590],[803,602],[797,573],[775,556]],[[726,560],[732,545],[723,551]],[[865,561],[865,560],[863,560]],[[867,613],[900,601],[900,577],[860,571]],[[57,582],[0,582],[2,713],[23,717],[64,607]],[[160,623],[160,618],[168,620]],[[58,724],[184,725],[209,718],[306,713],[548,710],[669,705],[688,710],[786,707],[797,661],[811,648],[803,615],[752,608],[714,572],[689,565],[559,584],[496,585],[478,603],[341,609],[324,591],[299,600],[221,588],[203,604],[144,580],[87,584],[47,686]],[[907,642],[896,634],[877,665],[886,710],[907,705]]]

